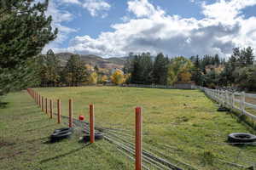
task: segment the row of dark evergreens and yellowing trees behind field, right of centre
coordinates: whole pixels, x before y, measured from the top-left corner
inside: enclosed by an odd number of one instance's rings
[[[195,82],[208,88],[236,87],[256,89],[256,68],[253,65],[253,48],[233,48],[229,59],[218,54],[179,56],[168,58],[164,54],[156,57],[149,53],[130,54],[124,72],[127,80],[136,84],[173,85],[177,82]]]

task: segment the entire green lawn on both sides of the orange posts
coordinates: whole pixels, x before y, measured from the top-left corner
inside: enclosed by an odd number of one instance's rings
[[[217,112],[218,106],[197,90],[153,88],[35,88],[51,99],[61,99],[67,116],[67,100],[73,99],[74,116],[88,117],[88,105],[95,105],[96,125],[134,132],[134,108],[143,107],[143,148],[155,155],[195,169],[239,169],[256,162],[256,146],[225,144],[234,132],[252,132],[235,116]],[[133,162],[115,145],[102,140],[79,143],[80,133],[70,140],[48,144],[57,127],[26,92],[12,93],[0,108],[0,169],[134,169]],[[55,103],[56,104],[56,103]],[[127,141],[133,142],[127,137]],[[184,168],[188,169],[188,168]]]

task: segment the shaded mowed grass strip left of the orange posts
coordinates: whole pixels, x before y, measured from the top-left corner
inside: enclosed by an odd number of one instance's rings
[[[65,126],[50,120],[25,91],[8,94],[0,106],[1,170],[134,169],[113,144],[84,144],[79,132],[50,144],[49,135]]]

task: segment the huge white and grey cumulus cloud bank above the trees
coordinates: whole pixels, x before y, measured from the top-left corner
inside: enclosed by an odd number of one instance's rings
[[[103,57],[124,56],[129,52],[163,52],[169,56],[219,54],[228,56],[234,47],[256,48],[256,18],[245,19],[241,9],[254,0],[220,0],[202,3],[205,18],[181,18],[169,15],[148,0],[130,0],[127,10],[134,18],[111,26],[114,31],[98,37],[74,37],[65,50]]]

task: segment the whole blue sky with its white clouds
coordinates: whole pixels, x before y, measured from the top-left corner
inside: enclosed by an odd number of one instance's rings
[[[51,0],[55,53],[169,56],[256,48],[256,0]]]

